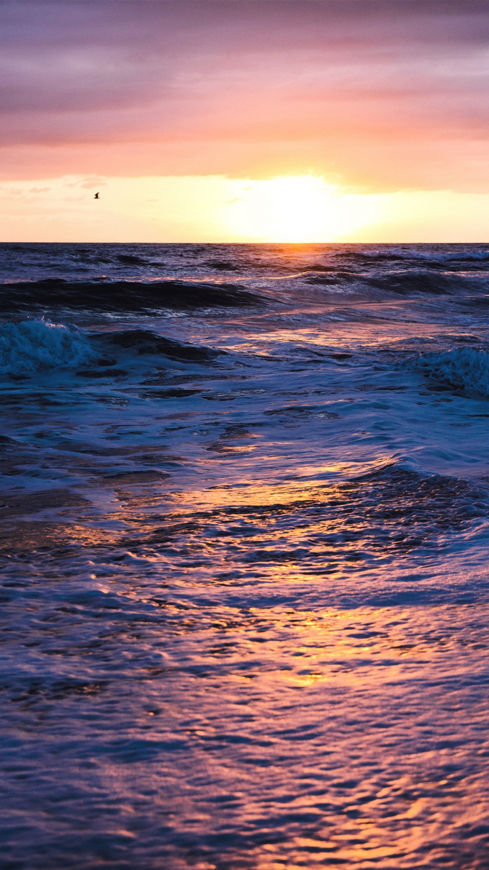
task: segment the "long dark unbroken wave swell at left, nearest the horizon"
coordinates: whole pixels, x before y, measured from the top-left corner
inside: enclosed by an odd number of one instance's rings
[[[162,280],[109,281],[105,276],[90,281],[46,278],[0,285],[0,310],[25,311],[40,308],[70,308],[89,311],[185,310],[212,306],[253,305],[257,294],[237,284],[205,284]]]

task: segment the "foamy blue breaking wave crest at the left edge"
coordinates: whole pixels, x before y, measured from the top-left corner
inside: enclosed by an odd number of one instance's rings
[[[47,320],[0,326],[0,372],[34,374],[93,362],[96,356],[80,332]]]

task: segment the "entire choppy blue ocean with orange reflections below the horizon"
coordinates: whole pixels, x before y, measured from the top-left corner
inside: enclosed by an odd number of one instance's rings
[[[489,245],[0,253],[2,870],[486,870]]]

